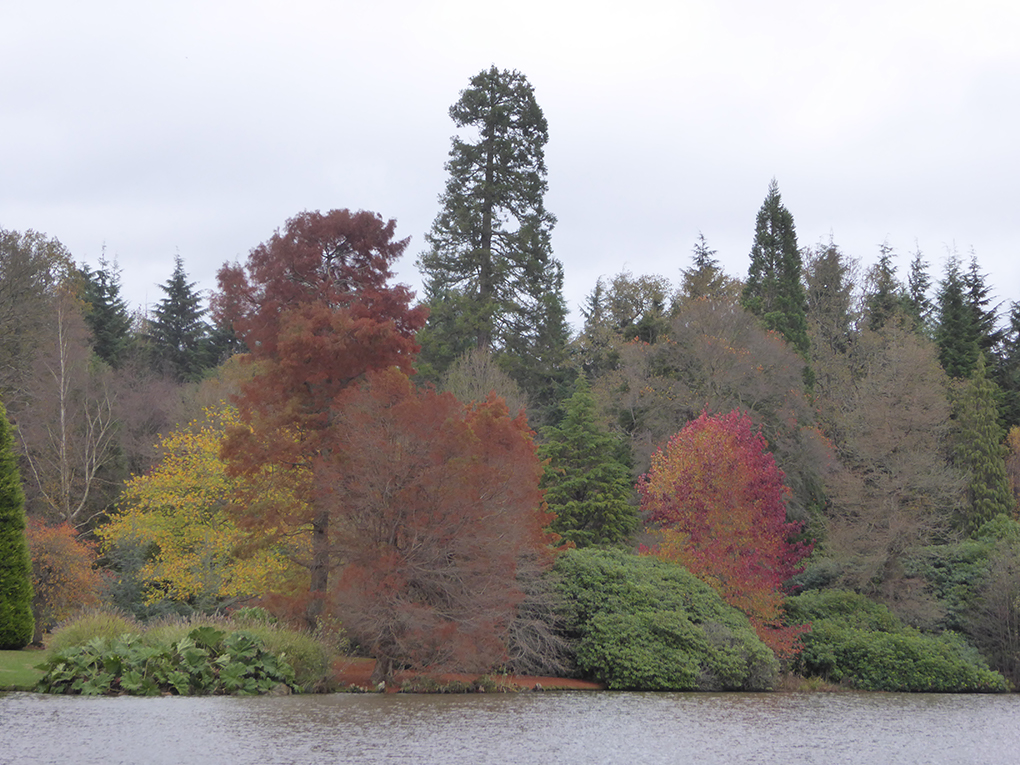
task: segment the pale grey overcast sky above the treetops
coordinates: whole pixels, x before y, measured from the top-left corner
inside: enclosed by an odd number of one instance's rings
[[[448,109],[495,64],[549,120],[571,321],[600,275],[676,280],[703,233],[744,276],[774,176],[801,245],[906,276],[973,251],[1020,299],[1015,0],[484,3],[0,0],[0,226],[106,248],[133,307],[180,253],[215,287],[302,210],[410,237],[415,289]]]

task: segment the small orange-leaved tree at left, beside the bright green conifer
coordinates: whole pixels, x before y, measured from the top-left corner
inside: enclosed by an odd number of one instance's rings
[[[30,518],[24,527],[32,554],[34,641],[80,608],[99,604],[103,578],[93,564],[95,547],[79,538],[69,523],[46,525]]]

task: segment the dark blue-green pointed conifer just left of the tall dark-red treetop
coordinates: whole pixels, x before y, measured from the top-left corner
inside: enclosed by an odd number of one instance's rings
[[[199,379],[210,367],[206,358],[208,326],[202,317],[206,310],[195,291],[197,283],[189,282],[184,261],[174,258],[173,274],[160,285],[166,297],[154,309],[149,323],[152,359],[156,369],[178,382]]]

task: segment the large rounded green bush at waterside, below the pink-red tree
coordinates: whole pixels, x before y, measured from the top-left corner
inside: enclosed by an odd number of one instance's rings
[[[778,662],[747,617],[680,566],[585,549],[556,568],[586,676],[620,691],[773,686]]]

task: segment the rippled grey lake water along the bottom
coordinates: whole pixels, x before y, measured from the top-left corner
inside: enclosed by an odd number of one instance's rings
[[[1020,763],[1020,696],[0,696],[0,763]]]

